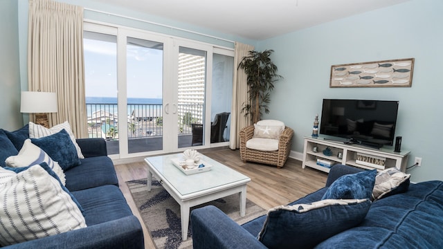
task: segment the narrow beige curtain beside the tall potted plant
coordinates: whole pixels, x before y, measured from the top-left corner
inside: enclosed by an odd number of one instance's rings
[[[248,55],[248,52],[254,50],[254,46],[235,42],[234,55],[234,82],[233,82],[233,111],[231,116],[230,149],[238,149],[240,146],[239,131],[250,125],[251,120],[244,117],[242,109],[243,103],[248,100],[248,85],[246,84],[246,73],[242,69],[237,69],[243,57]]]

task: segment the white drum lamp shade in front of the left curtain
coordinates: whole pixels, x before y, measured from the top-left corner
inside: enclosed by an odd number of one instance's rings
[[[20,112],[53,113],[57,112],[57,94],[39,91],[22,91]]]

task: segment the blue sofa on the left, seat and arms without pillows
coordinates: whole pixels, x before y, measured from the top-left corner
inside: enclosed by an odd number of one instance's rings
[[[118,187],[105,140],[87,138],[77,139],[77,142],[85,158],[64,174],[66,188],[84,210],[87,228],[5,248],[144,248],[141,223],[132,214]]]

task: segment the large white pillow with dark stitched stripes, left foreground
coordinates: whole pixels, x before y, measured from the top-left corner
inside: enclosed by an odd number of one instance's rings
[[[60,183],[40,165],[16,174],[0,167],[0,246],[86,228]]]

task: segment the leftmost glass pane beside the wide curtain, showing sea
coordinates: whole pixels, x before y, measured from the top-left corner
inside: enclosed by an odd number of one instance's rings
[[[118,154],[117,37],[84,32],[84,78],[90,138],[105,138]]]

